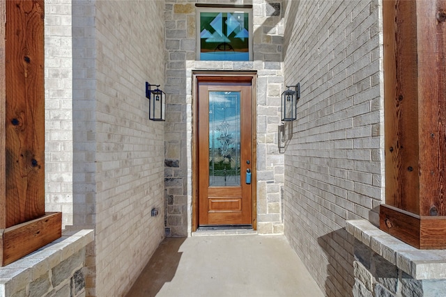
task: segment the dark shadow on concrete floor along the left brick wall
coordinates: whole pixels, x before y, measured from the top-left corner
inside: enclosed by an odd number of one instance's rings
[[[164,239],[126,297],[154,297],[166,282],[171,282],[183,254],[178,250],[185,240],[185,237]]]

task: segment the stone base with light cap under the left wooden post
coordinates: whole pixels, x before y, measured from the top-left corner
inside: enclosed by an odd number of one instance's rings
[[[0,296],[74,296],[85,294],[85,250],[93,230],[62,237],[0,268]]]

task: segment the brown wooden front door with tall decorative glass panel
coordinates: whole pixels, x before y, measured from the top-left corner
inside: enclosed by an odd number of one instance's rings
[[[251,79],[198,80],[199,227],[252,225]]]

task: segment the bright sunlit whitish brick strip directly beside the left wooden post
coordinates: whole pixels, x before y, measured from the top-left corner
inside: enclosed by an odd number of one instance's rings
[[[45,3],[45,211],[72,225],[72,7]]]

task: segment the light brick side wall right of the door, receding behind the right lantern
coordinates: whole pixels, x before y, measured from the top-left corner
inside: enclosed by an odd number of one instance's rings
[[[378,222],[383,83],[378,0],[285,1],[284,77],[300,82],[286,125],[285,234],[327,296],[351,296],[346,220]]]

